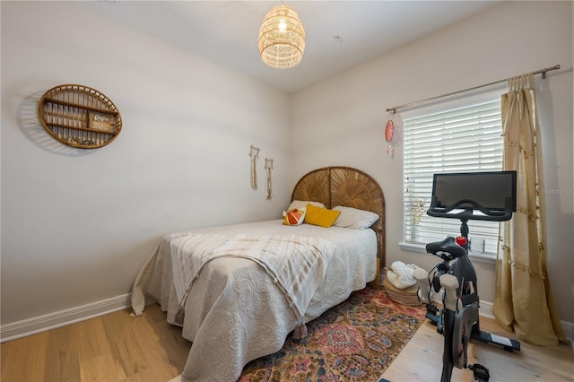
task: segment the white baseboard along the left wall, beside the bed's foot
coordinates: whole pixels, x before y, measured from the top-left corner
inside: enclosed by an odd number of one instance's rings
[[[3,325],[0,327],[0,343],[128,308],[130,297],[131,294],[126,293],[111,299]]]

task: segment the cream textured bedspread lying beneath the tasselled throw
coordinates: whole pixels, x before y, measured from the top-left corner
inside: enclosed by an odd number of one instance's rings
[[[304,322],[364,288],[377,273],[377,240],[372,230],[283,226],[278,220],[178,232],[160,240],[138,273],[132,291],[135,315],[142,314],[145,295],[159,302],[168,321],[176,324],[179,299],[171,244],[186,234],[208,233],[296,236],[332,243],[335,250],[326,259],[323,281],[310,296]],[[235,381],[249,360],[279,351],[299,323],[282,288],[256,261],[241,256],[214,258],[201,268],[187,294],[182,335],[193,345],[182,380]]]

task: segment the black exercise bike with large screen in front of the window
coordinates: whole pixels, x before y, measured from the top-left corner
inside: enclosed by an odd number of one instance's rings
[[[474,266],[468,257],[469,220],[508,221],[516,212],[516,171],[435,174],[431,206],[433,217],[459,219],[460,236],[429,243],[426,251],[442,261],[427,273],[413,273],[419,285],[419,299],[427,304],[426,317],[444,336],[441,382],[449,382],[453,368],[472,369],[474,379],[486,382],[489,369],[467,364],[468,344],[472,339],[494,343],[504,350],[520,350],[516,339],[483,332],[479,323],[478,285]],[[432,291],[443,290],[443,308],[432,300]]]

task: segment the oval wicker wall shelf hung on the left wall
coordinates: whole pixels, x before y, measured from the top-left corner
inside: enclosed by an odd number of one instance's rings
[[[42,126],[57,141],[78,149],[97,149],[116,139],[122,117],[102,92],[83,85],[59,85],[39,100]]]

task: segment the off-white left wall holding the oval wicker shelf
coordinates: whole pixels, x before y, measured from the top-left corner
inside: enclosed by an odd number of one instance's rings
[[[1,6],[3,326],[128,293],[170,231],[281,217],[289,95],[77,4]],[[39,98],[64,83],[117,105],[113,143],[78,150],[44,131]]]

